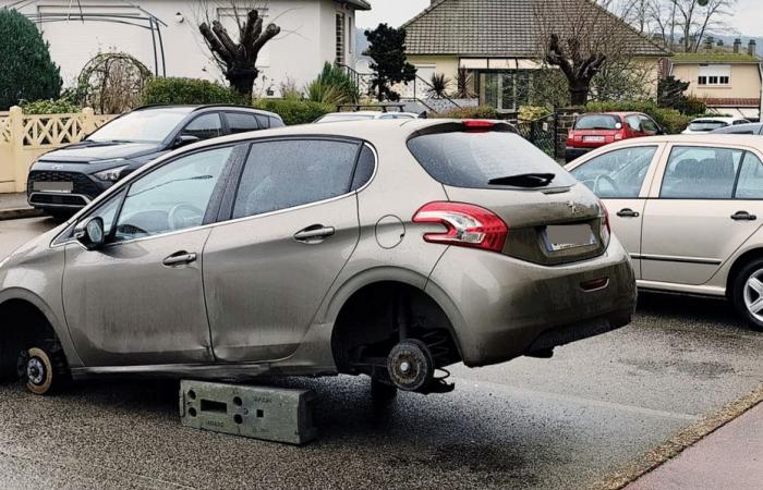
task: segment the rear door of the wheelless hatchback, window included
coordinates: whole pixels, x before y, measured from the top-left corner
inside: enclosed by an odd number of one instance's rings
[[[252,145],[231,193],[230,221],[214,228],[204,249],[219,360],[279,359],[302,343],[358,244],[351,183],[359,152],[370,151],[361,149],[354,140],[326,138]]]

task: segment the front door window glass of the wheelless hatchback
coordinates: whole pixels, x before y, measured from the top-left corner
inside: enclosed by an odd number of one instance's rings
[[[116,242],[198,226],[233,147],[199,151],[136,180],[128,191]]]

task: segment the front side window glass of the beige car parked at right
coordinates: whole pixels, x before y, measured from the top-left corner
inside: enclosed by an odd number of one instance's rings
[[[598,197],[635,198],[656,152],[656,146],[622,148],[600,155],[571,173]]]

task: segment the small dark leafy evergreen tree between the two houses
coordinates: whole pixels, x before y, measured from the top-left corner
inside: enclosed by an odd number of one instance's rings
[[[370,46],[363,54],[373,60],[371,89],[379,101],[400,100],[392,85],[408,84],[416,77],[415,66],[405,61],[405,29],[379,24],[374,30],[366,30],[365,36]]]

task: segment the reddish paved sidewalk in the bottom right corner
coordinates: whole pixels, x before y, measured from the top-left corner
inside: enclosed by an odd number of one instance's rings
[[[763,404],[626,487],[626,490],[760,490]]]

